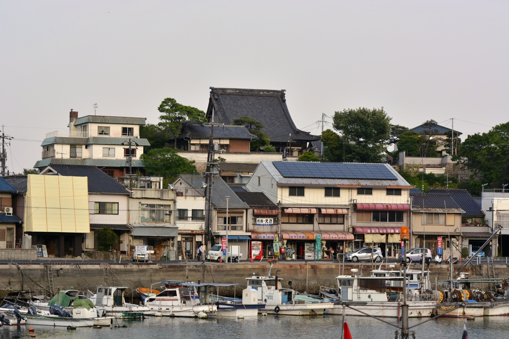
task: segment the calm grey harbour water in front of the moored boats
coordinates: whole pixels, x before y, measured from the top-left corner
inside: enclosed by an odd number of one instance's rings
[[[127,328],[66,328],[39,326],[35,328],[37,339],[159,339],[159,338],[326,338],[341,337],[341,316],[285,317],[267,316],[253,319],[182,319],[150,317],[145,320],[123,320]],[[388,321],[394,322],[394,319]],[[394,330],[380,321],[364,317],[347,317],[354,339],[393,338]],[[410,319],[410,326],[418,320]],[[414,328],[416,338],[461,338],[462,319],[436,319]],[[468,336],[475,338],[507,338],[508,317],[476,318],[467,321]],[[4,326],[0,328],[2,338],[31,338],[28,327]]]

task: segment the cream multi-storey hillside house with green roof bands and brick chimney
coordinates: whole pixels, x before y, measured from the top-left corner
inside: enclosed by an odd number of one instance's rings
[[[136,172],[143,167],[139,156],[144,146],[150,146],[139,137],[139,126],[145,118],[85,116],[69,113],[69,131],[46,134],[42,146],[42,160],[34,165],[42,171],[49,165],[91,165],[101,167],[111,177]]]

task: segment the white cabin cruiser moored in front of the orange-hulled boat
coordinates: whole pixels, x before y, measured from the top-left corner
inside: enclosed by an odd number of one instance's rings
[[[164,290],[145,299],[146,305],[150,308],[148,315],[207,318],[210,313],[216,312],[216,305],[202,304],[199,298],[192,298],[188,286],[174,284],[170,280],[161,283],[164,284]]]

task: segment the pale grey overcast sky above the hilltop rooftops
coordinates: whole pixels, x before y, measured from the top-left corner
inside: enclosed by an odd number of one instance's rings
[[[507,1],[4,1],[0,124],[9,171],[79,116],[145,117],[209,87],[286,90],[298,128],[384,107],[468,134],[509,121]],[[331,128],[327,118],[325,128]]]

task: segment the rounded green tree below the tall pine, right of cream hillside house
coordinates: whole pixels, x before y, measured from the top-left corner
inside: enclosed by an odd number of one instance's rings
[[[181,174],[197,174],[194,161],[178,155],[171,148],[156,148],[142,154],[145,170],[150,176],[163,177],[165,181],[173,182]]]

